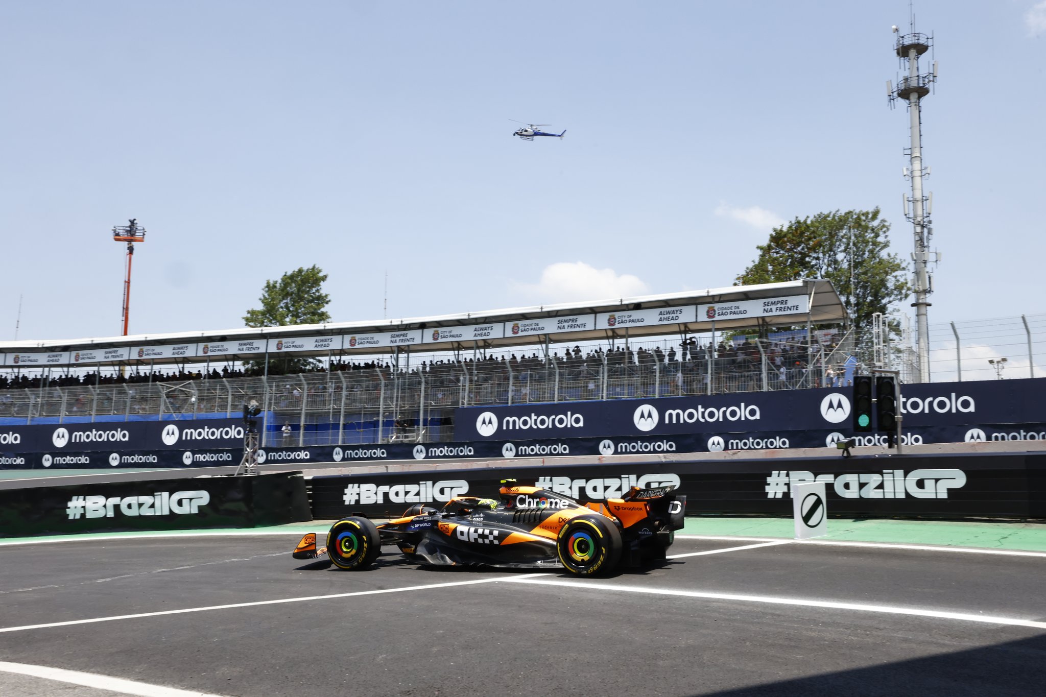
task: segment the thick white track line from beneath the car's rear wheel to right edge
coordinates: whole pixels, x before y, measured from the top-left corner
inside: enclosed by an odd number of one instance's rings
[[[890,605],[865,605],[860,603],[838,603],[823,600],[803,600],[801,598],[775,598],[773,596],[741,596],[729,593],[705,593],[701,590],[676,590],[674,588],[649,588],[645,586],[616,585],[610,583],[589,583],[587,581],[569,581],[560,579],[523,578],[505,579],[506,583],[529,583],[533,585],[554,585],[588,590],[608,590],[611,593],[641,593],[651,596],[677,596],[682,598],[703,598],[707,600],[733,600],[745,603],[765,603],[771,605],[796,605],[800,607],[823,607],[837,610],[857,610],[861,612],[885,612],[888,614],[909,614],[920,618],[937,618],[942,620],[960,620],[965,622],[981,622],[985,624],[1009,625],[1014,627],[1033,627],[1046,629],[1046,622],[1021,620],[1018,618],[1000,618],[988,614],[973,614],[970,612],[952,612],[946,610],[929,610],[911,607],[892,607]]]

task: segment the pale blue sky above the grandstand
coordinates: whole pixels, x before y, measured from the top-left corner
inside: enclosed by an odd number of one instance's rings
[[[920,0],[940,82],[931,323],[1042,312],[1046,3]],[[908,144],[881,2],[0,7],[0,338],[242,326],[319,264],[336,321],[729,285],[770,227],[881,206]],[[567,129],[522,142],[509,119]],[[906,308],[910,311],[910,308]]]

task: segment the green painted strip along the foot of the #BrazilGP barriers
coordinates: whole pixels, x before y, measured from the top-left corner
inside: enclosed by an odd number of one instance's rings
[[[295,534],[315,532],[326,534],[333,520],[293,522],[286,526],[232,530],[166,530],[156,532],[99,533],[84,535],[52,535],[42,537],[0,538],[0,547],[21,541],[61,541],[108,539],[119,537],[178,537],[206,535],[213,537],[257,534],[286,534],[291,549]],[[700,516],[686,518],[683,535],[714,537],[777,537],[791,539],[792,518],[754,516]],[[987,520],[902,520],[894,518],[828,518],[827,534],[818,539],[897,544],[939,544],[993,550],[1046,552],[1046,522],[1010,522]],[[321,542],[322,543],[322,542]]]

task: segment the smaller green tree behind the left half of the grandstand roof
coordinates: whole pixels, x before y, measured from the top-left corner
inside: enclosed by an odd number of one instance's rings
[[[301,266],[283,274],[278,281],[266,281],[258,301],[260,309],[249,309],[244,316],[248,327],[283,327],[291,324],[322,324],[331,321],[326,305],[331,296],[323,293],[323,281],[327,275],[313,264]],[[290,355],[270,357],[269,373],[300,373],[316,368],[315,358],[296,358]],[[265,359],[245,361],[244,370],[248,374],[265,371]]]

